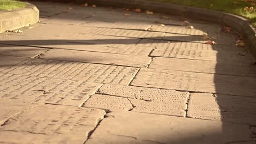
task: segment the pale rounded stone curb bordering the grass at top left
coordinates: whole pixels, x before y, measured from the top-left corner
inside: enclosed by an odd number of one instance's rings
[[[39,21],[39,10],[27,3],[24,9],[8,11],[0,14],[0,33],[32,25]]]

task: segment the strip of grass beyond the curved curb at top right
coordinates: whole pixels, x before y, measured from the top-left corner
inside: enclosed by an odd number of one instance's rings
[[[256,26],[256,0],[149,0],[172,4],[206,8],[248,18]],[[248,9],[246,8],[248,7]],[[251,9],[249,9],[252,7]]]

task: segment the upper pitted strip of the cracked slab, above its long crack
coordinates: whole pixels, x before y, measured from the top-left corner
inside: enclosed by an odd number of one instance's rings
[[[100,94],[114,95],[123,98],[141,99],[146,101],[170,101],[173,103],[187,103],[188,92],[178,92],[171,89],[133,87],[120,85],[103,85]]]

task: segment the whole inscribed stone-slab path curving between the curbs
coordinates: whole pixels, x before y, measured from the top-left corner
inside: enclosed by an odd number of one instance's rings
[[[256,67],[234,31],[32,3],[39,23],[0,34],[0,143],[255,144]]]

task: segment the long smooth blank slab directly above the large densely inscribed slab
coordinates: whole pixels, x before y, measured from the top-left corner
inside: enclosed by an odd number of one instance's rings
[[[68,53],[68,55],[67,55]],[[146,68],[150,62],[150,58],[146,56],[130,56],[114,53],[100,53],[88,51],[72,51],[72,50],[49,50],[40,56],[43,59],[55,59],[60,61],[86,62],[124,65],[130,67]]]

